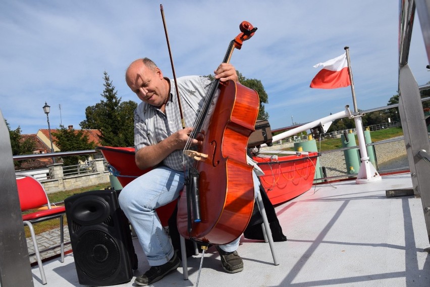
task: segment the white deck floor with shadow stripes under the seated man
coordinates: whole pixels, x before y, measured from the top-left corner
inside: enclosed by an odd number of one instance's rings
[[[317,185],[276,207],[288,241],[275,243],[280,264],[273,265],[266,243],[242,237],[244,270],[225,273],[212,247],[203,260],[199,286],[430,286],[429,247],[421,200],[387,198],[387,189],[412,187],[410,174],[383,176],[367,184],[355,181]],[[139,244],[140,275],[148,268]],[[195,286],[200,257],[188,259],[189,280],[182,268],[153,286]],[[73,254],[43,264],[45,286],[81,286]],[[42,286],[38,267],[35,286]],[[136,286],[134,278],[117,286]]]

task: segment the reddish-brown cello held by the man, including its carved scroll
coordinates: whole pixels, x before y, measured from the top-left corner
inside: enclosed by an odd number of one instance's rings
[[[223,63],[257,28],[240,24]],[[248,137],[254,131],[259,98],[255,90],[228,80],[213,81],[203,108],[193,124],[184,153],[195,159],[186,168],[186,185],[179,199],[179,233],[203,244],[223,245],[238,238],[252,215],[252,166],[247,164]],[[200,144],[191,150],[191,139]]]

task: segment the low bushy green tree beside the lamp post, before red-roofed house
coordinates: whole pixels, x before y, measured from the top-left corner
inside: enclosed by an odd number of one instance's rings
[[[88,140],[88,134],[83,129],[68,129],[60,125],[60,129],[52,132],[52,135],[56,137],[53,141],[62,152],[85,151],[95,148],[95,142]],[[63,162],[65,166],[77,165],[79,160],[85,161],[86,159],[85,156],[68,156],[63,158]]]

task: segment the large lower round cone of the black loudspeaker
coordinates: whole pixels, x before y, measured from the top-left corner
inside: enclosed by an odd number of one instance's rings
[[[89,230],[83,233],[73,252],[75,263],[93,279],[108,278],[120,268],[120,248],[106,232]]]

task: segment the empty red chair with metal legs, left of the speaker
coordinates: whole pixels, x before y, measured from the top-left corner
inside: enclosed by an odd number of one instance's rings
[[[28,211],[38,209],[35,212],[23,213],[22,220],[24,225],[27,225],[30,229],[31,239],[33,241],[34,253],[36,255],[37,264],[39,265],[40,277],[42,284],[46,284],[45,272],[43,270],[42,260],[40,253],[51,250],[53,248],[61,248],[61,262],[64,262],[64,230],[63,230],[63,217],[66,213],[64,206],[51,206],[48,197],[46,196],[45,189],[42,184],[33,176],[25,173],[16,174],[18,196],[21,205],[21,211]],[[44,209],[40,209],[44,208]],[[60,218],[60,236],[61,243],[57,246],[50,247],[39,251],[36,234],[34,233],[33,224],[53,218]]]

